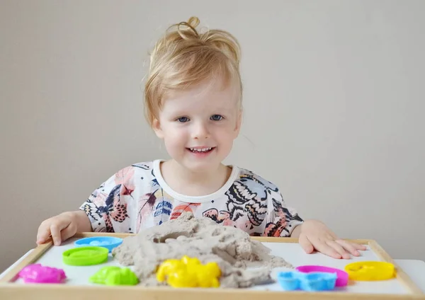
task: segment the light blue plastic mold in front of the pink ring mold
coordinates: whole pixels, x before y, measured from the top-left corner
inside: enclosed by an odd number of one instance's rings
[[[335,288],[336,273],[329,272],[279,272],[278,282],[286,291],[328,291]]]

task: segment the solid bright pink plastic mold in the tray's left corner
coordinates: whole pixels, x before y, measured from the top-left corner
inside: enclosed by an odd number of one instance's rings
[[[60,283],[67,278],[64,270],[40,264],[27,265],[18,276],[26,283]]]

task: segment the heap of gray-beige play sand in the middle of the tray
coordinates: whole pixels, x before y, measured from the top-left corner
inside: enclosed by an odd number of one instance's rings
[[[144,286],[162,285],[155,277],[157,266],[183,255],[198,258],[202,263],[217,262],[222,270],[220,287],[270,283],[273,267],[293,266],[269,253],[270,249],[251,240],[248,233],[208,218],[197,219],[190,212],[129,236],[113,249],[121,265],[135,266],[134,272]]]

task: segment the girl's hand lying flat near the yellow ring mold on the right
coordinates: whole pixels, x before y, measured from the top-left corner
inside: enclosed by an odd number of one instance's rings
[[[366,250],[364,245],[338,238],[321,221],[307,220],[299,226],[299,243],[306,253],[312,253],[317,250],[331,258],[349,259],[351,255],[360,256],[358,250]]]

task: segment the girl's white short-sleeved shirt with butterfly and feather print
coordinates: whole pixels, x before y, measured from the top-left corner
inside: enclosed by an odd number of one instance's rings
[[[166,184],[161,162],[123,168],[94,190],[80,207],[93,231],[137,233],[176,219],[182,212],[237,227],[251,236],[290,236],[303,221],[295,209],[286,206],[276,185],[251,171],[232,166],[220,190],[191,197]]]

